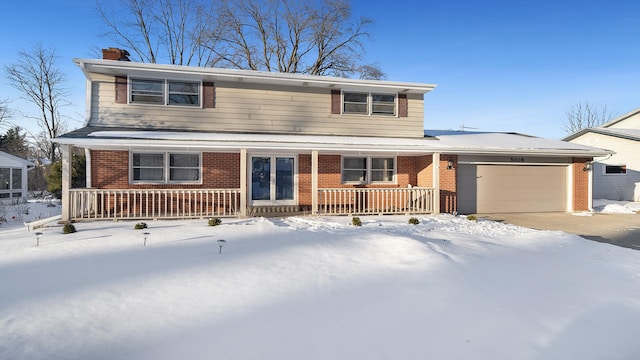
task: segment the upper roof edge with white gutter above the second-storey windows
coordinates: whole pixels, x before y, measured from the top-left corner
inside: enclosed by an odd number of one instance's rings
[[[255,84],[272,84],[285,86],[336,88],[336,89],[368,89],[369,91],[385,90],[398,93],[424,94],[433,90],[436,85],[414,82],[398,82],[383,80],[360,80],[337,78],[330,76],[314,76],[297,73],[277,73],[254,70],[234,70],[183,65],[148,64],[131,61],[73,59],[80,66],[87,78],[90,73],[111,76],[162,76],[180,79],[202,79],[205,81],[233,81]]]

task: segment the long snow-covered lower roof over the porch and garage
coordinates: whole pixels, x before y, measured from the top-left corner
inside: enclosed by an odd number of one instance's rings
[[[543,156],[605,156],[612,152],[590,146],[514,133],[458,132],[437,137],[389,138],[249,133],[208,133],[182,130],[85,127],[55,139],[60,144],[92,149],[190,148],[202,150],[297,150],[335,153],[486,154]]]

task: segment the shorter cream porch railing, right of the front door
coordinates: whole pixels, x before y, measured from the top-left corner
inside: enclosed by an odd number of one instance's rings
[[[319,189],[325,215],[424,214],[434,212],[432,188]]]

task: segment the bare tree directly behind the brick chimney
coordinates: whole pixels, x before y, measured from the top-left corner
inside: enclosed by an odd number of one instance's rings
[[[213,2],[204,0],[98,1],[105,37],[128,49],[134,60],[204,66],[211,60],[208,36],[215,25]]]

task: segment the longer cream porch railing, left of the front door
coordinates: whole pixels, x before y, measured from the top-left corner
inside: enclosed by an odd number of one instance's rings
[[[71,189],[71,219],[167,219],[237,216],[240,189]]]

